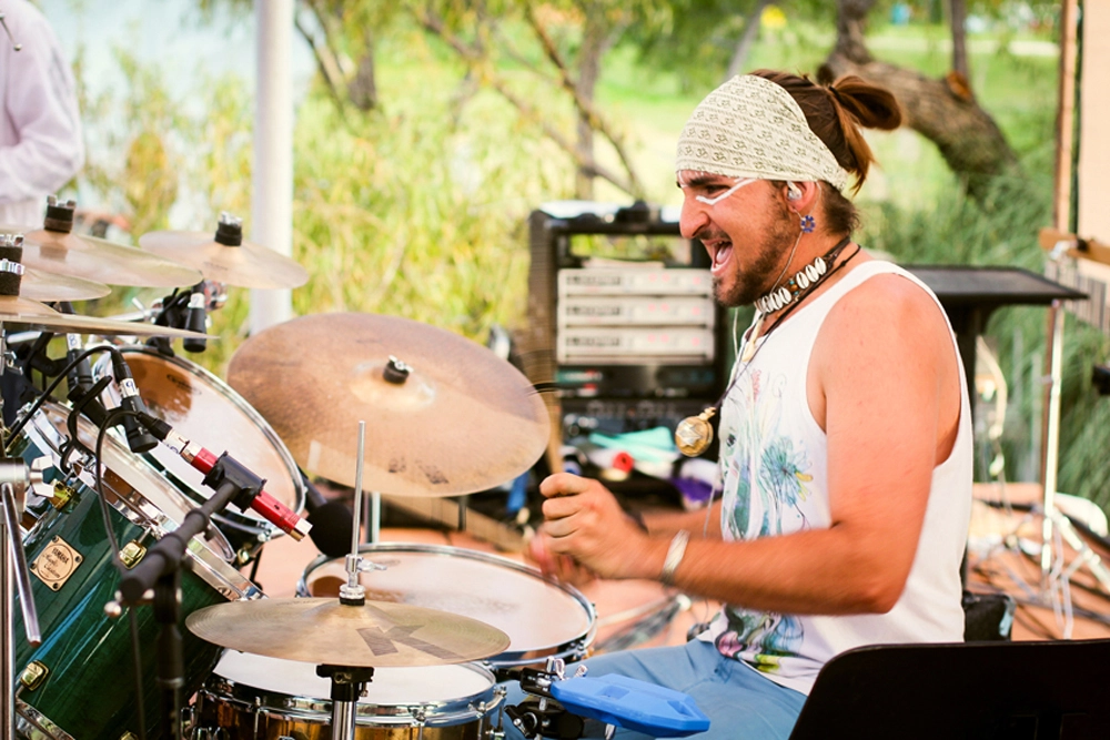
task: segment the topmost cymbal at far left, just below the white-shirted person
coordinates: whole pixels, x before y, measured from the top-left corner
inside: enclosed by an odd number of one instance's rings
[[[23,234],[20,262],[56,275],[139,287],[180,287],[201,282],[200,272],[192,267],[95,236],[18,226],[0,226],[0,232]]]

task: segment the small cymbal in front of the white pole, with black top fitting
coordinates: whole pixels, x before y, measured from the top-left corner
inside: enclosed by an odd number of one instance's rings
[[[284,288],[309,282],[309,272],[285,255],[252,242],[221,244],[211,232],[154,231],[140,236],[139,245],[151,254],[200,270],[205,280],[228,285]]]

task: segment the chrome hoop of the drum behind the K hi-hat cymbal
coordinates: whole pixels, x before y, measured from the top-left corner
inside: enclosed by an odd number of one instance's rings
[[[586,612],[586,617],[589,621],[589,626],[586,629],[586,633],[579,637],[575,637],[567,642],[558,646],[552,646],[547,648],[547,651],[543,647],[541,648],[527,648],[523,651],[516,652],[502,652],[492,658],[487,658],[483,661],[483,665],[492,666],[495,668],[512,668],[515,666],[531,666],[537,662],[543,662],[544,658],[567,658],[571,656],[583,657],[585,655],[586,648],[588,648],[594,638],[597,636],[597,611],[594,608],[594,604],[583,595],[574,586],[569,584],[563,584],[554,578],[545,576],[538,568],[518,562],[516,560],[511,560],[509,558],[502,557],[500,555],[493,555],[491,553],[483,553],[481,550],[471,550],[462,547],[453,547],[451,545],[427,545],[423,543],[376,543],[376,544],[363,544],[359,546],[360,555],[375,554],[375,553],[423,553],[426,555],[440,555],[440,556],[455,556],[462,557],[470,560],[477,560],[486,565],[500,566],[508,568],[509,570],[515,570],[517,572],[537,578],[548,586],[554,586],[561,589],[567,596],[573,598]],[[296,582],[296,592],[299,596],[310,596],[309,591],[309,574],[313,570],[320,568],[327,562],[333,560],[339,560],[340,558],[332,558],[326,555],[319,555],[305,566],[304,571],[301,574],[301,579]],[[528,653],[525,657],[525,653]]]

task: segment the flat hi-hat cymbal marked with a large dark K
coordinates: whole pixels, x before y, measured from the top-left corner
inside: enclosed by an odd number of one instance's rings
[[[504,652],[508,636],[477,619],[390,601],[256,599],[199,609],[193,635],[233,650],[352,668],[442,666]]]

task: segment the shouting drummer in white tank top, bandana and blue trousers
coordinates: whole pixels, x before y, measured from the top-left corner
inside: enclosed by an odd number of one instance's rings
[[[715,409],[722,499],[645,531],[596,480],[541,485],[546,571],[725,605],[685,646],[586,663],[688,693],[712,721],[697,737],[787,738],[850,648],[962,641],[972,440],[955,336],[927,287],[851,239],[847,195],[874,161],[860,128],[900,120],[854,77],[758,71],[702,101],[678,144],[682,232],[708,251],[717,300],[757,308]],[[683,446],[705,445],[697,426]]]

